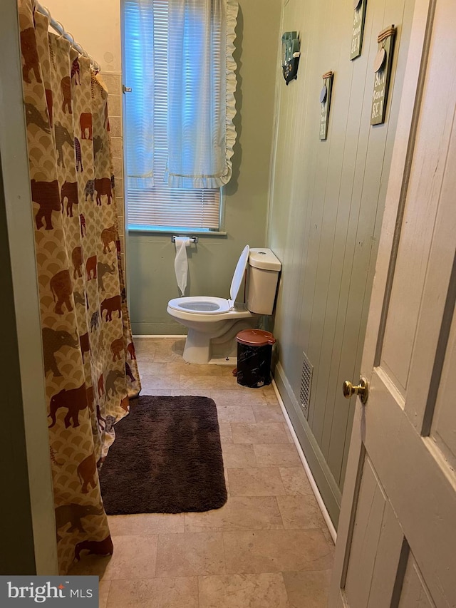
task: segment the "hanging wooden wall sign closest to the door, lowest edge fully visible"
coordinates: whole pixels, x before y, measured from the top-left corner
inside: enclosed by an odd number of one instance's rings
[[[380,125],[385,122],[395,35],[395,26],[390,26],[378,34],[378,53],[373,62],[375,80],[373,83],[371,125]]]

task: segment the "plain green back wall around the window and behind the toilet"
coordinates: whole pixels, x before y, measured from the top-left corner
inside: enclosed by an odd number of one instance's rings
[[[233,177],[225,187],[227,236],[199,238],[188,253],[186,295],[229,297],[229,285],[245,244],[263,247],[274,129],[274,90],[281,0],[239,0],[237,143]],[[180,293],[170,235],[130,232],[127,251],[130,314],[134,334],[181,334],[184,326],[166,312]]]

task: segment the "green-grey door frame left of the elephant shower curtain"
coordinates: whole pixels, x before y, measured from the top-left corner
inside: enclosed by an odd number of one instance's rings
[[[14,532],[14,525],[23,522],[28,537],[33,536],[28,550],[32,555],[25,555],[26,547],[19,546],[19,535],[17,547],[11,542],[11,550],[24,552],[18,557],[18,567],[28,562],[24,574],[49,576],[58,574],[56,524],[16,0],[4,0],[1,5],[0,57],[3,58],[0,61],[0,169],[3,180],[0,203],[4,205],[2,215],[6,216],[6,226],[2,227],[7,235],[4,259],[6,262],[9,259],[10,264],[1,272],[10,279],[12,286],[11,292],[2,294],[1,308],[6,311],[2,321],[7,339],[6,344],[0,345],[0,354],[7,366],[0,370],[0,377],[4,380],[2,403],[7,409],[9,405],[14,406],[11,413],[4,413],[6,421],[2,425],[9,424],[11,432],[11,453],[5,465],[9,467],[14,462],[11,471],[18,478],[21,496],[27,503],[14,503],[18,494],[9,493],[10,502],[4,507],[14,518],[5,523]],[[9,450],[8,446],[9,442],[6,450]],[[19,462],[24,462],[22,470]],[[5,540],[2,537],[2,541]],[[4,549],[9,550],[7,543]],[[35,572],[30,572],[33,562]]]

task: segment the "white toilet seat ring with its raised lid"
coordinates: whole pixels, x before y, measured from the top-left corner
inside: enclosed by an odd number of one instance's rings
[[[244,272],[247,267],[247,260],[249,259],[249,250],[249,245],[246,245],[244,249],[242,249],[242,254],[239,256],[236,269],[234,269],[231,287],[229,289],[230,299],[214,298],[211,296],[190,296],[174,298],[170,300],[170,302],[168,302],[168,308],[175,311],[179,311],[184,315],[212,315],[223,314],[229,311],[234,312],[234,301],[237,298],[239,288],[241,287],[242,279],[244,278]],[[185,319],[185,316],[183,316],[182,318]]]

